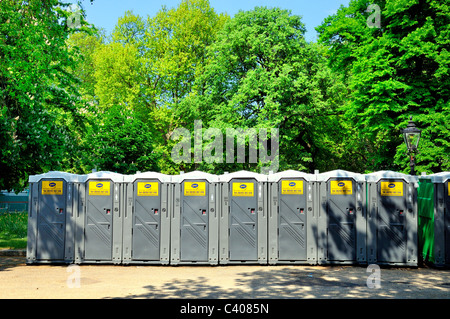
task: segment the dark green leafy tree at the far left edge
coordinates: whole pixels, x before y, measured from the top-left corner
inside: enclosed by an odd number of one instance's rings
[[[0,188],[61,167],[79,125],[75,61],[65,41],[71,12],[57,1],[0,2]],[[80,13],[80,30],[86,22]]]

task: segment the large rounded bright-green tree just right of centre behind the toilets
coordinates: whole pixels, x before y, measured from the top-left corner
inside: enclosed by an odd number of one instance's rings
[[[304,33],[301,18],[288,10],[257,7],[236,14],[210,46],[205,72],[179,110],[183,125],[202,119],[205,128],[223,133],[227,127],[277,128],[280,169],[333,166],[340,160],[335,105],[344,88],[327,67],[324,49],[306,43]],[[222,169],[261,165],[247,161]]]

